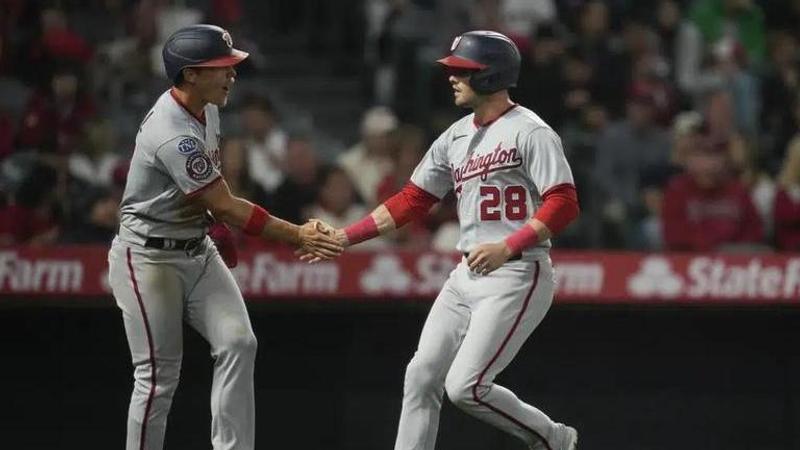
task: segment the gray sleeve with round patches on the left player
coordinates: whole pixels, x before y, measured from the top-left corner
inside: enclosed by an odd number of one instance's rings
[[[186,195],[191,195],[221,176],[203,143],[192,136],[178,136],[156,149],[156,164],[169,174]]]

